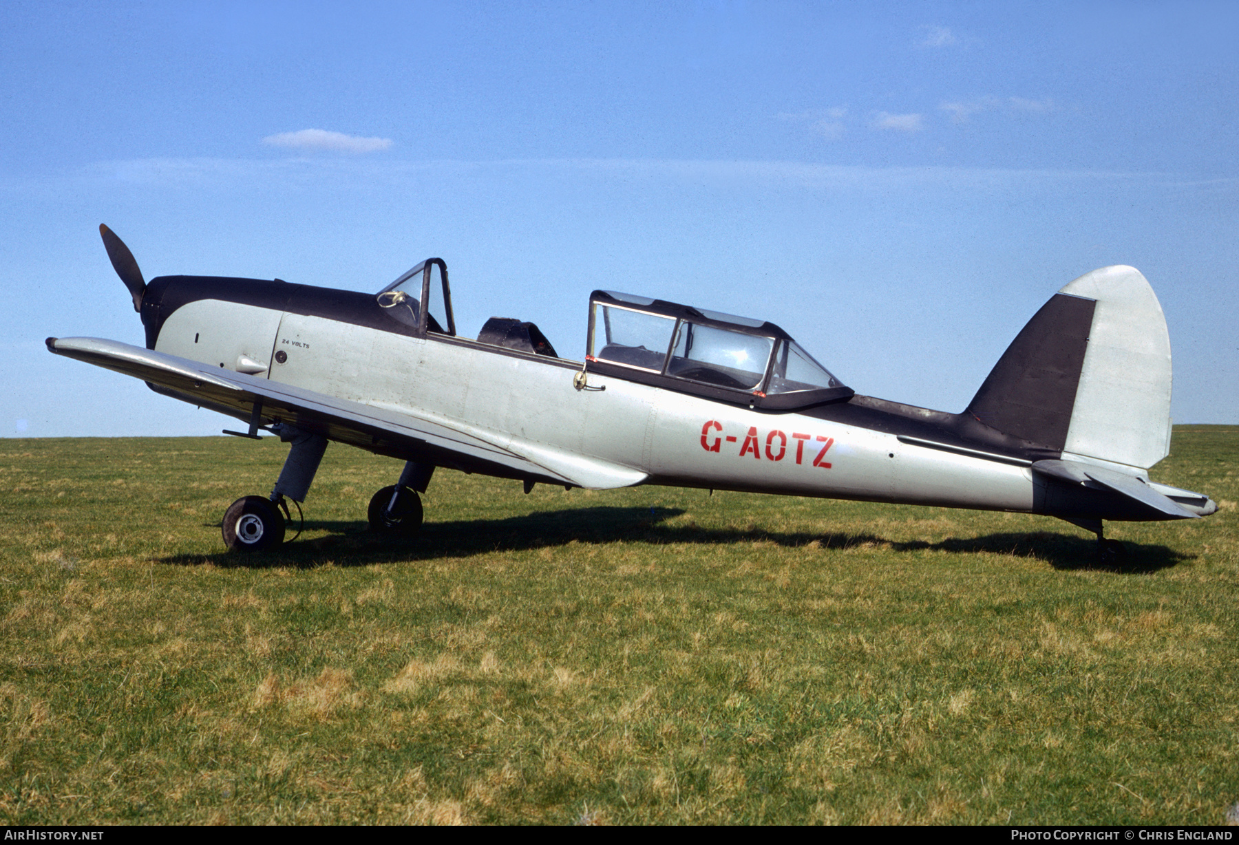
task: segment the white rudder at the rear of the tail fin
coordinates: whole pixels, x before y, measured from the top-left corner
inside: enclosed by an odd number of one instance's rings
[[[1170,333],[1157,296],[1130,266],[1059,292],[1097,301],[1063,451],[1151,467],[1170,451]]]

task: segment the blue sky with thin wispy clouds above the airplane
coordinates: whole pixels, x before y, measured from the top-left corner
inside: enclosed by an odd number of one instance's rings
[[[1239,422],[1234,4],[48,4],[0,9],[0,432],[218,434],[48,354],[142,343],[146,278],[378,290],[579,358],[595,287],[782,325],[960,410],[1057,289],[1131,264],[1173,415]],[[307,131],[315,130],[315,131]]]

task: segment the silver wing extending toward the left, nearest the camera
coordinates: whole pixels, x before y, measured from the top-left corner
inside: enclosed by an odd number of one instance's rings
[[[591,489],[631,487],[647,478],[647,473],[631,467],[520,441],[458,420],[337,399],[119,341],[50,337],[47,348],[58,356],[140,378],[156,393],[243,420],[249,419],[260,400],[264,420],[290,422],[380,455]]]

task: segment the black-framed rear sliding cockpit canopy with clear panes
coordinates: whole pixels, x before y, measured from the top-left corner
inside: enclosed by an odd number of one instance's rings
[[[590,295],[586,362],[601,374],[755,408],[852,395],[774,323],[617,291]]]

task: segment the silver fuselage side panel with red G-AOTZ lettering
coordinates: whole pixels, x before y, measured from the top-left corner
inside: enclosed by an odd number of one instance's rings
[[[167,316],[155,349],[242,372],[266,364],[254,374],[484,432],[527,453],[550,450],[621,465],[648,475],[646,483],[1035,510],[1038,479],[1028,466],[596,373],[590,389],[576,389],[581,362],[466,338],[410,337],[203,299]]]

